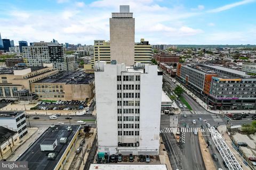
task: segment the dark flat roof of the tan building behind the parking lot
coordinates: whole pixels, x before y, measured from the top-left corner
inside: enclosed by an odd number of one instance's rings
[[[84,71],[61,71],[34,83],[90,84],[93,80],[94,74],[86,74]]]

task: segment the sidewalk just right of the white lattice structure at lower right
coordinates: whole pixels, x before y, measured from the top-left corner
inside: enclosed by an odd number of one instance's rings
[[[244,170],[250,170],[251,168],[249,166],[246,166],[243,163],[243,158],[239,155],[239,153],[232,147],[232,140],[230,139],[229,135],[227,134],[227,127],[226,126],[219,126],[218,131],[223,133],[222,137],[226,141],[226,144],[228,145],[228,148],[231,150],[233,155],[235,156],[236,160],[240,165],[242,165],[242,168]]]

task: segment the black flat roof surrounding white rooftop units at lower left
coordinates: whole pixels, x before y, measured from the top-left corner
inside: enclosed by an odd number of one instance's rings
[[[73,129],[72,131],[68,131],[68,125],[55,125],[55,127],[49,127],[46,131],[37,138],[37,140],[30,145],[30,147],[22,153],[22,155],[16,161],[28,161],[28,168],[29,169],[54,169],[55,166],[59,163],[63,153],[66,151],[68,145],[67,144],[60,144],[61,137],[67,137],[67,141],[71,141],[75,134],[77,133],[78,129],[81,125],[70,125]],[[58,128],[58,129],[57,129]],[[54,151],[41,151],[40,144],[45,139],[57,139],[57,147]],[[47,159],[47,154],[54,152],[55,159],[49,160]]]

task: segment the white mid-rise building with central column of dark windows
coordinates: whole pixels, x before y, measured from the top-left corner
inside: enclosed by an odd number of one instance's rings
[[[94,75],[99,152],[158,155],[163,72],[97,61]]]

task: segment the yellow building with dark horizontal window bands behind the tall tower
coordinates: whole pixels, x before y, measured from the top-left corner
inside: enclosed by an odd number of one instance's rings
[[[152,46],[141,38],[140,43],[134,43],[134,62],[151,63]],[[91,60],[93,69],[95,61],[106,61],[110,64],[110,42],[105,40],[94,40],[94,58]]]

